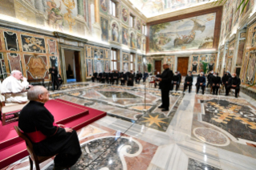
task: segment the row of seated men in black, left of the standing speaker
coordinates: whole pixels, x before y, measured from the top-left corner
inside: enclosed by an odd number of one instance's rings
[[[133,86],[134,81],[139,84],[140,80],[143,79],[143,82],[148,78],[148,72],[145,71],[144,74],[140,73],[140,71],[135,72],[133,71],[127,71],[127,72],[120,72],[120,71],[104,71],[104,72],[94,72],[93,75],[91,76],[91,81],[95,82],[97,81],[98,83],[110,83],[116,85],[120,84],[124,85],[127,83],[127,86]]]

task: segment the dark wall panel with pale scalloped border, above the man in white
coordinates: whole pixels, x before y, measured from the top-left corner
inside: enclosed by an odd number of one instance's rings
[[[14,32],[4,31],[6,51],[18,51],[18,38]]]

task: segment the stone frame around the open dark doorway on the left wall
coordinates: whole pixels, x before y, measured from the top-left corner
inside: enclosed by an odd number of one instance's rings
[[[86,78],[86,66],[84,59],[84,48],[83,47],[73,47],[64,44],[60,44],[60,55],[59,55],[59,67],[61,68],[61,76],[63,78],[63,83],[67,84],[67,75],[66,75],[66,63],[65,63],[65,50],[67,51],[78,51],[79,52],[79,66],[80,66],[80,75],[81,81],[85,82]]]

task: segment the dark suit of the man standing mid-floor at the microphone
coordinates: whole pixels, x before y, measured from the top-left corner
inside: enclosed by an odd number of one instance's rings
[[[162,105],[161,107],[169,110],[169,91],[171,87],[173,79],[173,71],[169,68],[165,69],[161,74],[161,82],[159,83],[159,88],[161,89],[161,98],[162,98]]]

